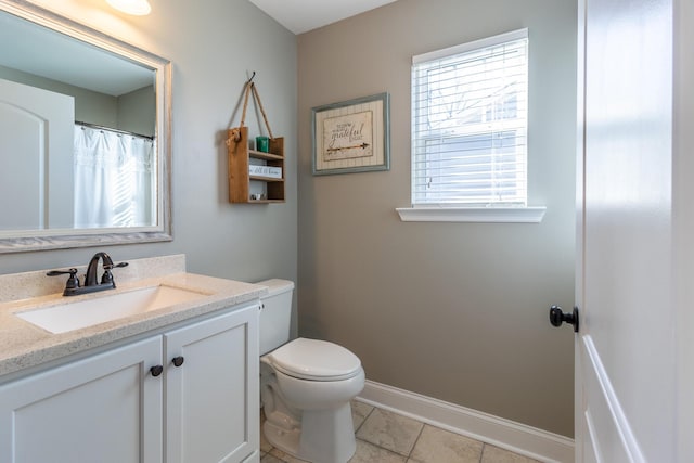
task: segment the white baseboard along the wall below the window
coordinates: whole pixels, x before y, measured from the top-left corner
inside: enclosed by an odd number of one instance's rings
[[[574,439],[397,387],[367,381],[357,400],[542,462],[574,462]]]

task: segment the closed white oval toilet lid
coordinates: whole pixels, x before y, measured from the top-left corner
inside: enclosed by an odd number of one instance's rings
[[[359,358],[326,340],[299,337],[267,356],[277,370],[290,376],[312,381],[338,381],[361,370]]]

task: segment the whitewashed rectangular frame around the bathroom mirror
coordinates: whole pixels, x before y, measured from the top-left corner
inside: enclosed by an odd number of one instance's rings
[[[0,0],[0,11],[98,47],[156,73],[157,226],[128,229],[17,230],[0,237],[0,254],[171,241],[171,62],[25,0]]]

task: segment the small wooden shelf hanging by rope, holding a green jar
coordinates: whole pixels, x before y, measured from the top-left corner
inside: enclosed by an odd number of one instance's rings
[[[272,136],[258,90],[253,82],[255,75],[254,72],[244,87],[241,124],[229,129],[227,139],[229,202],[284,203],[284,138]],[[244,126],[250,94],[262,113],[269,134],[256,137],[255,150],[250,150],[248,127]]]

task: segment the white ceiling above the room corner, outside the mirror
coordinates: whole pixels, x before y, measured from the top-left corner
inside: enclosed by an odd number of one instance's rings
[[[301,34],[395,0],[250,0],[278,23]]]

